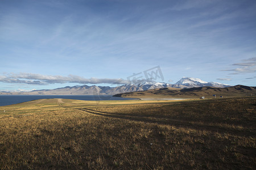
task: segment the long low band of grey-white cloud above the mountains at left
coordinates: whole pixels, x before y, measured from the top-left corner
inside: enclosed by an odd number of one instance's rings
[[[19,74],[5,74],[0,75],[0,82],[4,83],[16,83],[16,84],[35,84],[35,85],[48,85],[55,83],[80,83],[80,84],[127,84],[127,80],[124,79],[98,79],[98,78],[83,78],[77,75],[42,75],[32,73],[19,73]]]

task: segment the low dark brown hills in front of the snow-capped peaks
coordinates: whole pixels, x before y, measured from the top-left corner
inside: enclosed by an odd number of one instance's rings
[[[256,95],[256,87],[249,86],[232,86],[232,87],[192,87],[192,88],[159,88],[154,90],[146,90],[140,92],[126,92],[123,94],[114,95],[116,97],[157,97],[157,96],[168,96],[173,98],[184,98],[184,97],[232,97],[232,96],[250,96]]]

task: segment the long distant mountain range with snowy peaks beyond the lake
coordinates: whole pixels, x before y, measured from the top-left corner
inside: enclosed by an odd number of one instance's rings
[[[145,91],[156,88],[192,88],[192,87],[230,87],[228,84],[205,82],[199,78],[181,78],[175,84],[164,82],[144,82],[139,84],[125,84],[117,87],[109,86],[73,86],[55,88],[53,90],[34,90],[29,92],[0,92],[0,95],[115,95],[125,92]]]

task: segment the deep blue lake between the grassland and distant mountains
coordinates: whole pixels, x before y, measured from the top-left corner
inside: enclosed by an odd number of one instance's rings
[[[75,99],[75,100],[133,100],[109,95],[0,95],[0,106],[23,103],[38,99]]]

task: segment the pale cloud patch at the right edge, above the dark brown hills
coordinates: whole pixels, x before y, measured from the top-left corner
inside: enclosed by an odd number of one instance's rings
[[[234,63],[232,66],[241,66],[236,69],[222,70],[222,71],[234,71],[230,74],[240,74],[240,73],[254,73],[256,72],[256,57],[249,59],[242,59],[240,63]]]

